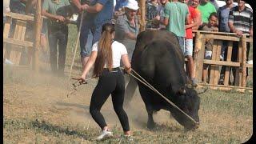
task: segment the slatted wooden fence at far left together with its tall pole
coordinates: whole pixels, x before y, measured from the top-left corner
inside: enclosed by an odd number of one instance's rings
[[[29,49],[27,58],[28,66],[32,58],[33,70],[38,72],[38,51],[40,46],[40,34],[42,29],[41,1],[37,2],[36,14],[34,16],[26,14],[5,13],[6,22],[3,30],[3,58],[7,58],[19,66],[22,54]],[[14,29],[11,29],[12,20],[16,20]],[[30,26],[27,26],[30,23]],[[30,29],[30,31],[28,30]],[[10,33],[10,30],[14,30]]]

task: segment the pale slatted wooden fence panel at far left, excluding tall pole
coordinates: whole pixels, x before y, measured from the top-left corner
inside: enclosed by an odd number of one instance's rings
[[[5,16],[3,58],[4,60],[7,58],[15,66],[19,66],[22,61],[22,54],[26,54],[24,57],[27,58],[25,60],[27,62],[26,66],[30,66],[31,58],[34,54],[34,16],[16,13],[6,13]],[[13,30],[11,28],[12,20],[16,21]],[[30,23],[29,26],[28,23]],[[40,30],[41,28],[42,20],[39,25]]]

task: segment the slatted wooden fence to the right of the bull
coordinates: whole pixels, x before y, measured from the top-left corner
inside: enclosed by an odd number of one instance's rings
[[[249,38],[249,35],[238,37],[234,33],[209,32],[200,30],[194,30],[193,32],[195,37],[194,69],[198,82],[202,82],[203,65],[208,64],[211,66],[208,84],[209,86],[225,88],[238,87],[239,89],[252,90],[252,88],[246,87],[246,68],[253,68],[252,64],[246,63],[246,42],[250,42],[251,44],[253,42],[253,38]],[[206,38],[214,39],[212,58],[210,60],[205,59]],[[228,41],[226,61],[220,60],[223,40]],[[239,42],[237,62],[231,62],[233,42]],[[220,66],[226,66],[224,85],[218,84],[218,80],[220,78]],[[236,67],[234,86],[229,86],[230,66]]]

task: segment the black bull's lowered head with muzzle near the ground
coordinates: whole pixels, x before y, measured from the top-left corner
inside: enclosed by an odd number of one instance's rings
[[[182,114],[179,110],[171,110],[173,117],[187,130],[191,130],[198,127],[199,116],[198,110],[200,105],[200,98],[196,90],[193,88],[186,88],[186,93],[177,93],[175,98],[175,104],[191,118],[194,119],[197,123],[194,123],[190,118],[185,114]]]

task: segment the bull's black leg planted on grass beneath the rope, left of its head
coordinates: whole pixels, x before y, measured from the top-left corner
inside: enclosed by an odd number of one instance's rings
[[[154,108],[152,103],[152,97],[154,94],[152,93],[152,90],[146,88],[146,86],[142,86],[141,83],[138,84],[138,87],[139,87],[139,92],[142,96],[142,100],[145,103],[146,111],[148,114],[147,128],[153,129],[155,126],[155,122],[153,119]]]

